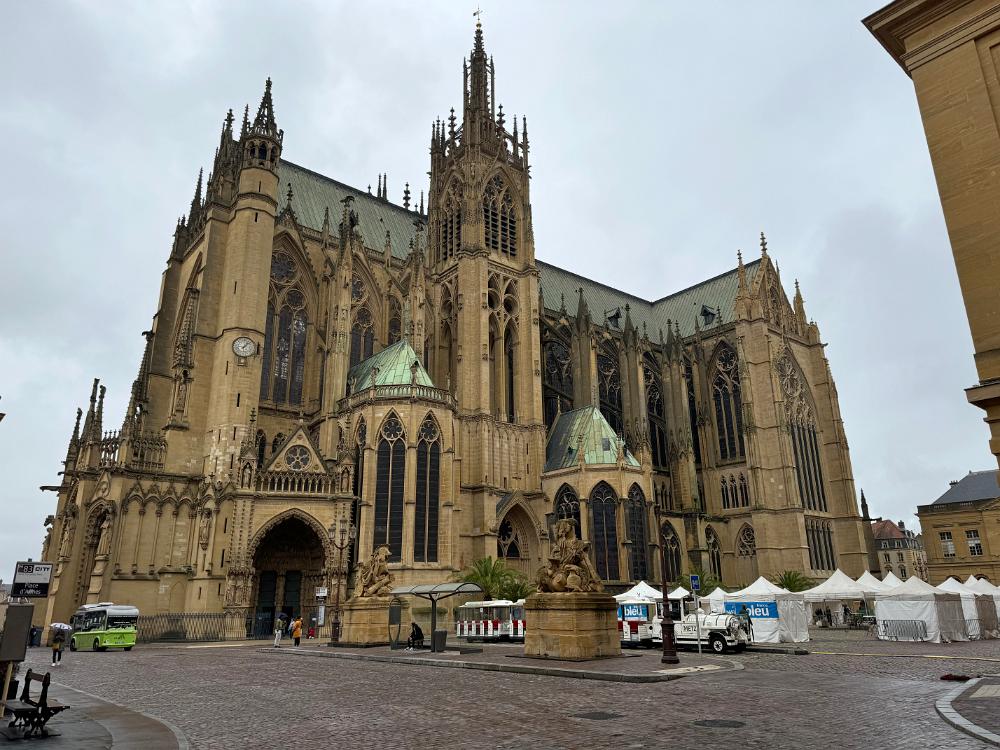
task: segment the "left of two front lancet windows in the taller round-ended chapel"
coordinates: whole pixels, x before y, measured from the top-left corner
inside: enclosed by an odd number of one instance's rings
[[[398,562],[403,551],[406,435],[395,414],[382,423],[376,454],[374,544],[389,545],[389,560]]]

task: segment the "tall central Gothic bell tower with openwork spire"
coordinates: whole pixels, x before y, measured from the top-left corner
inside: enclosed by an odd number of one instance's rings
[[[435,383],[461,404],[462,483],[487,502],[541,486],[538,270],[527,122],[519,129],[514,117],[507,129],[481,24],[462,77],[461,125],[452,109],[431,137],[428,263],[439,295],[431,364]],[[477,514],[485,507],[474,505]]]

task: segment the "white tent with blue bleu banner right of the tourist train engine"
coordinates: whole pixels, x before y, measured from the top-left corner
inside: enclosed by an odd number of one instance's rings
[[[750,618],[754,643],[802,643],[809,640],[809,618],[802,594],[793,594],[758,578],[744,589],[726,594],[726,611]]]

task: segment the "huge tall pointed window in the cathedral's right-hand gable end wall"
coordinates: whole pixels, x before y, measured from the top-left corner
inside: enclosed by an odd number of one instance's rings
[[[785,419],[792,438],[795,479],[802,507],[807,510],[826,511],[826,488],[819,457],[820,441],[808,387],[787,349],[775,363],[775,370],[785,399]]]

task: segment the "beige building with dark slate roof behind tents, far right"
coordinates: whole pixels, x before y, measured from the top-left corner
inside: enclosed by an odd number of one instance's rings
[[[997,472],[970,471],[941,497],[917,508],[927,549],[928,582],[970,575],[1000,581],[1000,486]]]

